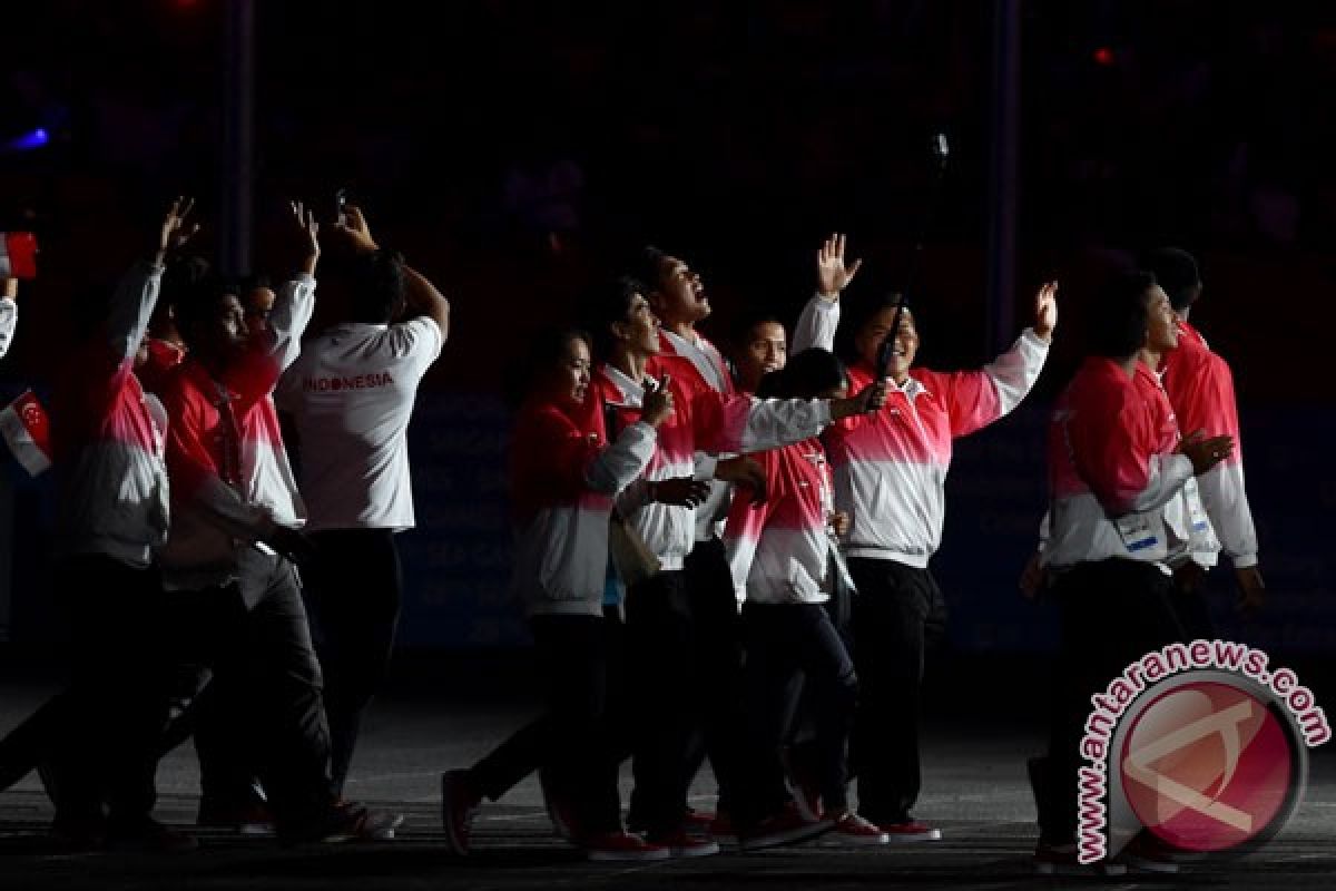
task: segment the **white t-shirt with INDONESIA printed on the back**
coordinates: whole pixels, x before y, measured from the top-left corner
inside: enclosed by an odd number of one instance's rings
[[[413,528],[409,417],[442,343],[420,317],[337,325],[302,345],[274,397],[297,425],[309,530]]]

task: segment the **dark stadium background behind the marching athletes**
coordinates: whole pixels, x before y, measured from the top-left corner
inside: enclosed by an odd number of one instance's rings
[[[175,194],[220,206],[223,0],[11,4],[0,52],[0,227],[37,230],[0,386],[43,391],[71,307],[147,251]],[[257,266],[273,275],[283,200],[349,187],[373,231],[453,302],[411,430],[420,528],[405,536],[402,647],[522,643],[497,382],[592,277],[652,240],[705,277],[721,339],[747,303],[796,318],[820,239],[866,259],[847,299],[902,283],[951,164],[912,295],[922,359],[990,343],[991,4],[767,0],[258,3]],[[1174,243],[1206,283],[1193,321],[1232,363],[1272,608],[1226,631],[1287,659],[1336,653],[1329,382],[1336,236],[1336,8],[1205,0],[1021,3],[1015,329],[1062,282],[1058,343],[1015,417],[958,443],[935,570],[971,659],[1042,653],[1047,612],[1014,580],[1043,510],[1046,407],[1075,362],[1102,258]],[[319,325],[319,321],[317,321]],[[11,474],[13,645],[56,632],[44,480]],[[5,542],[9,546],[9,542]]]

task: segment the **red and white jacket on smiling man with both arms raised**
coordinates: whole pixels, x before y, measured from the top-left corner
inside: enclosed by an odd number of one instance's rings
[[[794,351],[834,347],[839,303],[814,297],[794,333]],[[835,470],[835,504],[850,514],[844,553],[923,569],[942,541],[951,441],[993,423],[1030,391],[1049,345],[1026,329],[1010,350],[978,371],[911,369],[891,385],[886,406],[844,418],[826,433]],[[850,391],[875,370],[850,369]]]

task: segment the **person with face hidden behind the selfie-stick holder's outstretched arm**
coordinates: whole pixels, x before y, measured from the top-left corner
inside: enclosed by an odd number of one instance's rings
[[[832,353],[808,349],[783,371],[768,374],[762,395],[840,398],[844,365]],[[739,489],[724,542],[733,584],[745,597],[748,783],[732,811],[744,847],[756,839],[795,842],[828,828],[855,844],[884,844],[890,836],[848,806],[848,736],[858,679],[844,637],[827,604],[850,585],[836,530],[848,517],[835,512],[835,490],[820,439],[811,438],[756,456],[766,470],[766,498]],[[804,768],[822,801],[803,814],[784,785],[780,747],[802,683],[815,736],[804,747]]]

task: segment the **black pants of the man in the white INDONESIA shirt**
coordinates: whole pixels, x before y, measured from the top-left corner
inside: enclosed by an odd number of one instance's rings
[[[330,773],[342,795],[362,713],[389,672],[403,569],[390,529],[329,529],[311,540],[317,560],[305,594],[325,672]]]

